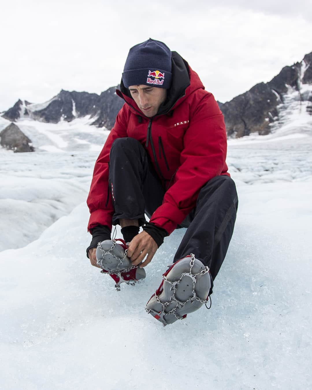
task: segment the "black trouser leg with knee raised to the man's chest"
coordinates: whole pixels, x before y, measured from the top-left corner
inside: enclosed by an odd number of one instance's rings
[[[163,201],[165,190],[139,141],[117,138],[110,150],[108,183],[112,193],[113,225],[119,219],[137,219],[144,224]]]

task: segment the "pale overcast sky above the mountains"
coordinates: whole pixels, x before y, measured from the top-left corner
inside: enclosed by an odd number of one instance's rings
[[[311,0],[1,4],[0,111],[61,89],[99,94],[120,82],[129,48],[149,37],[181,54],[222,102],[312,51]]]

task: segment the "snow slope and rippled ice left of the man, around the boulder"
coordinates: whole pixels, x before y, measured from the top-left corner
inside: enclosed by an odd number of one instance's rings
[[[9,123],[0,118],[0,131]],[[108,135],[88,123],[89,118],[62,124],[18,121],[35,152],[0,149],[0,250],[34,241],[85,201],[94,162]]]

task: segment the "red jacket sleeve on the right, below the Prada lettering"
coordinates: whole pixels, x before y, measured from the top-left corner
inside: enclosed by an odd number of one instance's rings
[[[170,234],[195,207],[199,191],[210,179],[227,174],[227,133],[222,112],[212,94],[206,94],[190,116],[183,138],[175,183],[150,222]]]

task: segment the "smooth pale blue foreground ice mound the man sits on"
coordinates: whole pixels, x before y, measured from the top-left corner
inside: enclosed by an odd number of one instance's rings
[[[1,252],[0,383],[10,389],[308,388],[312,189],[309,183],[262,187],[238,187],[236,230],[211,310],[165,328],[144,306],[183,229],[165,239],[147,278],[122,285],[120,293],[85,257],[85,204],[25,248]],[[278,199],[284,199],[280,207]]]

